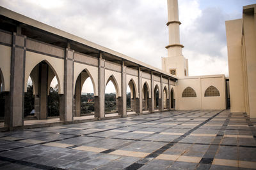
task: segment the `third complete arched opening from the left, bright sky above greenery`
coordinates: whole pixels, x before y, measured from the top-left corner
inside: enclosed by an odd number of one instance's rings
[[[118,86],[115,77],[109,77],[105,89],[105,117],[109,113],[118,113]]]

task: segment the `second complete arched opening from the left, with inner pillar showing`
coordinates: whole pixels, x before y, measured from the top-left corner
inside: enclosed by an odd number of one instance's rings
[[[94,108],[95,83],[90,72],[84,69],[76,80],[74,95],[74,117],[95,115]]]

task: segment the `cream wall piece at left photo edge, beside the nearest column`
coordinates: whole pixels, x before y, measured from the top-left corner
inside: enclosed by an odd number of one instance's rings
[[[10,74],[11,74],[11,53],[12,48],[10,46],[0,45],[0,68],[3,73],[4,79],[4,91],[10,91]],[[3,81],[3,80],[2,80]]]

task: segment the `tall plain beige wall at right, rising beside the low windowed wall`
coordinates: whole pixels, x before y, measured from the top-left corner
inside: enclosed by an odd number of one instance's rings
[[[230,111],[244,112],[244,67],[241,35],[243,20],[226,21]]]

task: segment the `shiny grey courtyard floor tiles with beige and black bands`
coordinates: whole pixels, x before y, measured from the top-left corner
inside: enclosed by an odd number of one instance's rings
[[[169,111],[0,133],[0,169],[256,169],[256,121]]]

